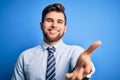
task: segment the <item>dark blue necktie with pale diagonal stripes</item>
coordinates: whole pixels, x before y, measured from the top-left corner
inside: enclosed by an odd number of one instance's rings
[[[48,47],[48,59],[47,59],[47,70],[46,70],[46,80],[55,80],[55,47]]]

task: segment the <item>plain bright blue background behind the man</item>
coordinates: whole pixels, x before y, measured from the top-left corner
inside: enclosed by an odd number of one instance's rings
[[[55,2],[66,8],[65,43],[87,49],[102,41],[92,55],[96,72],[91,80],[120,80],[119,0],[0,0],[0,80],[10,80],[22,51],[42,42],[41,11]]]

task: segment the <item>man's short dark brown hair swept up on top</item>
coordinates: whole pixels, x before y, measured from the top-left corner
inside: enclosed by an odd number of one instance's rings
[[[47,15],[47,13],[49,13],[51,11],[56,11],[56,12],[63,13],[64,14],[64,18],[65,18],[65,25],[66,25],[67,19],[66,19],[66,14],[64,12],[65,8],[60,3],[55,3],[55,4],[48,5],[47,7],[45,7],[43,9],[43,11],[42,11],[42,22],[44,22],[44,19],[45,19],[45,16]]]

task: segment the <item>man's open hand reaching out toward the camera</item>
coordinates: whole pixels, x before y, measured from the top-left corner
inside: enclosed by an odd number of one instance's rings
[[[82,80],[92,71],[91,55],[92,52],[101,45],[101,41],[94,42],[87,50],[85,50],[78,58],[76,66],[71,73],[67,73],[65,77],[71,80]]]

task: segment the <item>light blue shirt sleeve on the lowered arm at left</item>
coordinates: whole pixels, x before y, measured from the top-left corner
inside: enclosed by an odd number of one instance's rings
[[[24,70],[23,70],[23,55],[21,54],[17,60],[14,67],[14,72],[11,80],[25,80]]]

